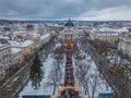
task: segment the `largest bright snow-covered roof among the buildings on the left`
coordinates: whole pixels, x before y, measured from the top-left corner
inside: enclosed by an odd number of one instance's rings
[[[33,44],[32,40],[25,40],[25,41],[9,41],[11,44],[11,46],[14,47],[27,47],[31,46]]]

